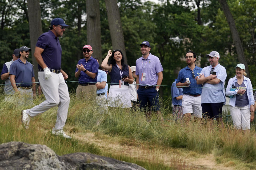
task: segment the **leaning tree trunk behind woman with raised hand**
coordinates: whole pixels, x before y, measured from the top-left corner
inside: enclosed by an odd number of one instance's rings
[[[116,0],[105,0],[107,19],[109,22],[109,30],[113,49],[120,49],[123,52],[125,63],[127,63],[127,56],[125,52],[125,40],[123,37],[123,29],[121,26],[121,18],[119,8]]]

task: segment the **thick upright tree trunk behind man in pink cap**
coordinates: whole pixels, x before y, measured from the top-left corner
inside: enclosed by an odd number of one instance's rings
[[[102,62],[101,54],[101,19],[99,12],[99,0],[86,1],[86,26],[87,26],[87,44],[93,48],[93,57]]]

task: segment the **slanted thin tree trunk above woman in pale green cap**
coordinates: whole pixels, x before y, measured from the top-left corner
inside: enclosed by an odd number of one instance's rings
[[[224,14],[226,16],[226,19],[227,19],[227,23],[229,24],[231,35],[232,35],[232,38],[233,38],[233,41],[235,43],[235,47],[236,47],[236,50],[237,50],[238,60],[239,60],[240,63],[243,63],[245,65],[247,77],[250,78],[249,67],[248,67],[247,61],[245,59],[245,53],[243,52],[243,46],[242,46],[237,28],[235,26],[235,20],[234,20],[232,14],[231,14],[229,6],[227,5],[227,1],[226,0],[218,0],[218,1],[221,4],[221,7],[222,7],[223,12],[224,12]]]

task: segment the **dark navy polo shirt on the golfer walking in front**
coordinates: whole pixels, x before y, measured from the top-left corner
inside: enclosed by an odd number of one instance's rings
[[[35,46],[44,49],[41,55],[49,69],[61,69],[62,49],[59,44],[59,37],[56,37],[54,33],[49,30],[38,38]],[[42,69],[39,64],[38,69]]]

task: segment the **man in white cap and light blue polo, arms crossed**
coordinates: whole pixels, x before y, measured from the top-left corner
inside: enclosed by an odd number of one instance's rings
[[[204,67],[201,71],[198,84],[203,83],[201,105],[203,109],[203,117],[216,118],[218,123],[222,126],[222,106],[226,103],[224,81],[226,80],[227,73],[225,67],[219,64],[219,53],[212,51],[207,54],[209,57],[210,66]]]

